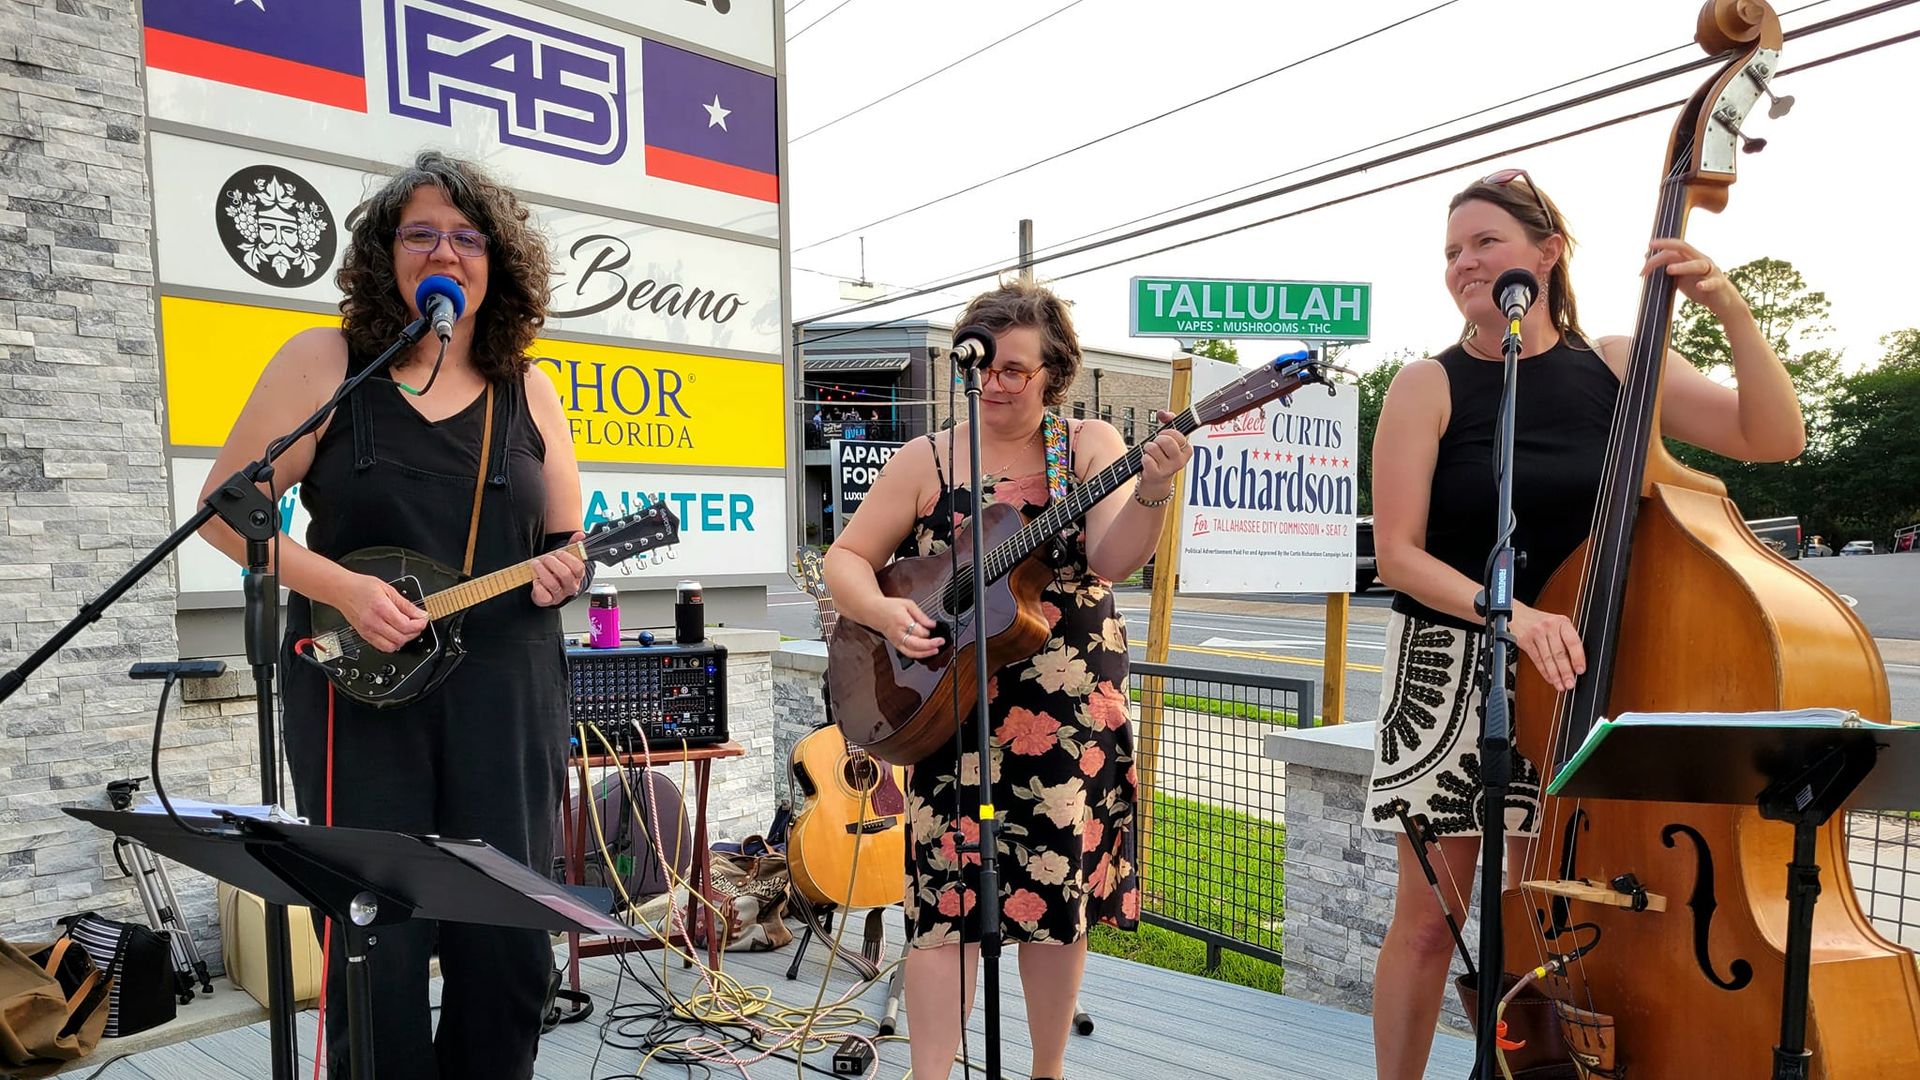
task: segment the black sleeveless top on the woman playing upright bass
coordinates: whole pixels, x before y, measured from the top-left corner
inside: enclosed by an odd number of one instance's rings
[[[1453,346],[1434,357],[1453,404],[1427,503],[1427,553],[1467,575],[1486,577],[1494,548],[1494,421],[1503,365]],[[1620,380],[1590,348],[1563,338],[1521,361],[1513,423],[1513,546],[1526,553],[1513,596],[1532,603],[1553,571],[1586,540],[1607,459],[1607,434]],[[1463,630],[1480,630],[1407,594],[1394,611]]]

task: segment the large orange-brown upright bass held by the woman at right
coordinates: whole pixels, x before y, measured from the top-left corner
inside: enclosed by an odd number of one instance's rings
[[[1680,236],[1693,208],[1726,206],[1740,123],[1778,69],[1780,19],[1759,0],[1711,0],[1695,38],[1726,61],[1674,127],[1655,236]],[[1548,780],[1603,715],[1824,705],[1889,721],[1885,669],[1853,611],[1763,546],[1724,484],[1665,452],[1672,300],[1665,271],[1649,275],[1594,530],[1536,603],[1569,615],[1588,655],[1565,696],[1532,667],[1519,671],[1519,749]],[[1768,1076],[1793,828],[1699,803],[1542,798],[1540,815],[1540,842],[1511,874],[1528,884],[1501,897],[1505,967],[1578,953],[1546,982],[1578,1074]],[[1818,863],[1811,1074],[1920,1076],[1920,970],[1860,911],[1843,815],[1822,826]],[[1617,880],[1665,903],[1592,899]],[[1601,888],[1555,888],[1567,882]]]

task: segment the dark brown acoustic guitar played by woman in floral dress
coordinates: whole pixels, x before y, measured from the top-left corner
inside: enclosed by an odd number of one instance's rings
[[[1173,417],[1167,429],[1190,434],[1302,386],[1325,384],[1329,367],[1302,359],[1302,354],[1273,359]],[[973,713],[973,650],[979,642],[985,640],[989,671],[1027,659],[1046,644],[1050,630],[1041,613],[1041,590],[1054,571],[1037,552],[1056,544],[1062,528],[1137,477],[1144,446],[1135,446],[1031,519],[1008,503],[981,507],[973,521],[954,530],[958,571],[952,569],[952,553],[895,559],[883,567],[879,590],[918,603],[937,623],[931,636],[947,638],[947,644],[931,657],[912,659],[900,655],[885,634],[841,619],[828,648],[828,690],[833,694],[833,721],[847,742],[895,765],[912,765],[952,742],[954,717]],[[987,607],[977,617],[975,528],[983,530],[985,565],[979,573],[987,580]]]

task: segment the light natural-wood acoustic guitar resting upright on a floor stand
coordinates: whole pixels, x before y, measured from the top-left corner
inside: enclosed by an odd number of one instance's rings
[[[795,578],[812,594],[824,634],[837,621],[820,577],[820,553],[795,557]],[[906,899],[906,776],[833,724],[793,746],[799,811],[787,832],[793,888],[812,903],[843,909],[887,907]],[[854,847],[860,861],[854,865]]]

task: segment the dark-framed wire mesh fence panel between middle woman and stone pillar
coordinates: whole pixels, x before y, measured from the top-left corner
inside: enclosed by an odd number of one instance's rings
[[[1140,773],[1140,919],[1281,963],[1286,846],[1277,726],[1313,726],[1306,678],[1133,665]]]

